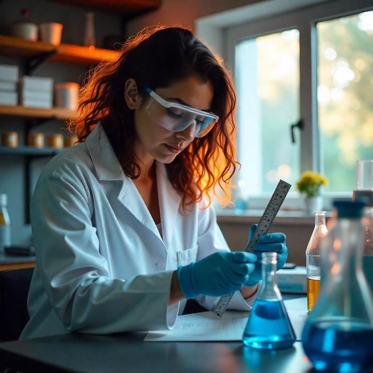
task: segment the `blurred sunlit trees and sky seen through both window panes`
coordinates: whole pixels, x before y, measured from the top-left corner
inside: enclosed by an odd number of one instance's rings
[[[373,159],[373,12],[319,22],[316,29],[320,172],[329,179],[324,192],[352,192],[355,162]],[[261,190],[251,187],[250,175],[239,176],[249,195],[272,192],[279,179],[295,184],[299,178],[298,131],[295,144],[290,137],[290,125],[300,116],[299,48],[297,29],[244,40],[236,47],[239,110],[244,105],[258,111],[253,116],[247,110],[238,123],[239,161],[243,166],[258,162],[246,156],[247,146],[257,147],[260,157],[255,175],[261,178]],[[253,59],[255,71],[246,72],[242,81],[242,69]],[[251,89],[243,90],[247,85]]]

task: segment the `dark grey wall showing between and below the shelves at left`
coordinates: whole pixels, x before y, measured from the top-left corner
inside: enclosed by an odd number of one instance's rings
[[[0,34],[10,34],[10,25],[17,19],[21,9],[30,10],[31,21],[34,23],[60,22],[63,24],[62,43],[83,44],[84,23],[86,9],[65,4],[43,0],[2,0],[0,1]],[[119,15],[95,11],[95,37],[96,46],[104,46],[104,37],[120,35],[122,22]],[[0,56],[0,64],[18,65],[20,76],[23,75],[24,60]],[[32,75],[51,76],[55,83],[78,81],[82,82],[87,69],[79,65],[64,65],[60,63],[44,63],[39,66]],[[19,143],[25,144],[22,119],[11,119],[0,116],[0,133],[4,131],[16,131],[19,134]],[[65,124],[60,121],[48,121],[43,125],[32,129],[32,132],[44,132],[46,140],[48,134],[63,133],[61,129]],[[43,166],[50,157],[43,157],[32,162],[33,184]],[[8,195],[8,211],[12,223],[13,243],[25,243],[31,241],[31,226],[25,224],[24,204],[24,157],[20,155],[0,155],[0,193]]]

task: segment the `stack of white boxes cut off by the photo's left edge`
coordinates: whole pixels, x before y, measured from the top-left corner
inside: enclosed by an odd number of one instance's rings
[[[0,65],[0,105],[16,106],[18,104],[18,79],[18,66]]]

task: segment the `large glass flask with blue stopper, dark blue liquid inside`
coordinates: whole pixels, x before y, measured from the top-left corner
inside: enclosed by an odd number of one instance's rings
[[[373,301],[362,270],[364,202],[335,201],[334,206],[338,217],[320,251],[320,294],[302,341],[317,370],[354,373],[373,364]]]

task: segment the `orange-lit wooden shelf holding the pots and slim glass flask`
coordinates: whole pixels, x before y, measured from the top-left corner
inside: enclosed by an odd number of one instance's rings
[[[94,48],[82,47],[73,44],[60,44],[53,46],[44,41],[30,41],[13,36],[0,35],[0,54],[22,58],[37,58],[43,54],[56,53],[48,58],[49,61],[75,63],[84,66],[91,66],[103,60],[116,60],[120,52]]]

